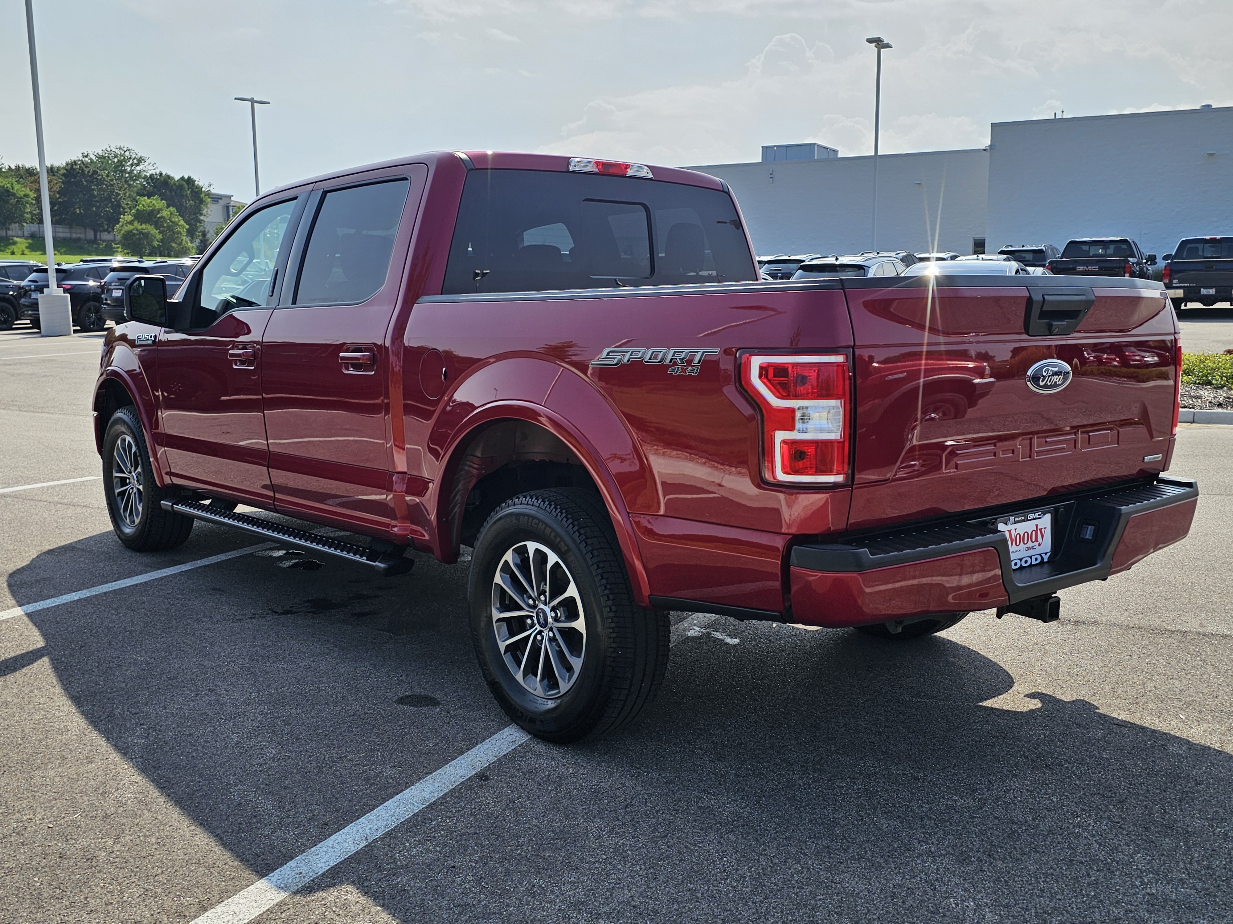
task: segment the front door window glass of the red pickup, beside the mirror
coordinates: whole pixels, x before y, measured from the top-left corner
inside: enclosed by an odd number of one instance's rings
[[[254,212],[227,238],[201,272],[201,302],[192,326],[207,328],[236,308],[260,308],[272,302],[271,280],[284,248],[295,200]]]

